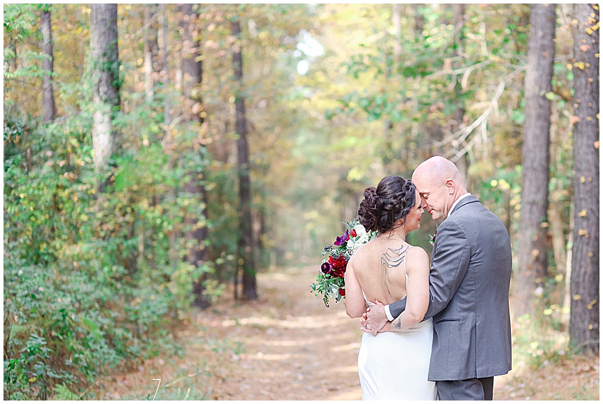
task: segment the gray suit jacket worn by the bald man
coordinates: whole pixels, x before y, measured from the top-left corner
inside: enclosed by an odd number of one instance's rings
[[[511,243],[477,197],[463,198],[435,237],[429,274],[433,346],[429,380],[465,380],[511,370]],[[398,317],[405,299],[389,305]]]

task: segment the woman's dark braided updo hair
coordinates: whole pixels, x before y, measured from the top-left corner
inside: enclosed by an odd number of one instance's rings
[[[367,232],[389,232],[398,219],[401,218],[402,224],[405,223],[415,202],[415,184],[410,179],[388,175],[377,188],[369,186],[364,190],[358,218]]]

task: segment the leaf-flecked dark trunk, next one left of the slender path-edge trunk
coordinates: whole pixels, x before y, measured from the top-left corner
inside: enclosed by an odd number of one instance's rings
[[[199,34],[199,24],[197,13],[193,10],[193,4],[186,3],[180,5],[181,20],[180,27],[182,31],[182,89],[186,98],[185,109],[190,111],[190,119],[198,122],[198,137],[193,140],[194,149],[199,153],[199,160],[192,160],[195,165],[188,174],[191,179],[184,185],[184,192],[192,195],[195,200],[202,204],[202,218],[187,216],[186,224],[193,227],[193,230],[186,232],[186,239],[192,245],[188,251],[188,262],[200,267],[205,259],[204,241],[207,239],[207,226],[204,224],[204,218],[207,218],[207,192],[204,186],[204,170],[202,161],[204,159],[205,147],[200,142],[203,133],[201,125],[204,122],[204,111],[202,108],[201,83],[203,80],[203,65],[201,61],[201,43]],[[195,294],[195,305],[206,308],[209,303],[203,297],[203,280],[201,276],[193,285]]]

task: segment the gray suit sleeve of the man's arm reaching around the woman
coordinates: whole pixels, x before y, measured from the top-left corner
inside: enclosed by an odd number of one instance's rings
[[[433,261],[429,273],[429,307],[424,320],[440,313],[459,289],[467,274],[471,255],[469,240],[459,223],[442,223],[433,246]],[[406,298],[389,304],[389,313],[394,318],[406,308]]]

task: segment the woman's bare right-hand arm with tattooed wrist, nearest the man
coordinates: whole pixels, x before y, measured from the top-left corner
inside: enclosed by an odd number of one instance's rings
[[[408,250],[406,273],[406,309],[380,331],[404,331],[423,320],[429,306],[429,256],[423,248]]]

